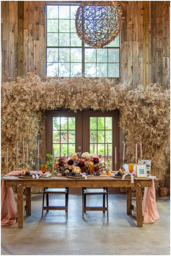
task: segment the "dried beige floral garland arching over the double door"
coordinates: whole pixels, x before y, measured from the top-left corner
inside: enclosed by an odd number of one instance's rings
[[[102,111],[119,109],[120,126],[126,134],[126,161],[133,161],[135,144],[142,140],[143,157],[152,160],[152,175],[164,179],[169,161],[169,90],[163,90],[157,84],[138,85],[135,89],[126,83],[114,86],[106,78],[73,77],[41,81],[31,73],[25,78],[17,77],[16,81],[2,83],[2,175],[6,170],[6,147],[9,170],[15,169],[17,141],[20,145],[18,166],[22,168],[22,143],[28,143],[29,159],[34,165],[36,136],[42,129],[41,115],[45,110],[62,106],[73,111],[88,108]]]

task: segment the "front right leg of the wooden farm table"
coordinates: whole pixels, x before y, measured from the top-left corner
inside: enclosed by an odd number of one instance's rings
[[[143,212],[142,212],[142,191],[139,181],[135,181],[135,193],[136,193],[136,221],[137,227],[143,227]]]

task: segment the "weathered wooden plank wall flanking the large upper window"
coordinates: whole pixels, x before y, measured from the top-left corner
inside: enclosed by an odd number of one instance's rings
[[[1,81],[32,72],[45,78],[46,3],[80,1],[1,1]],[[170,84],[169,1],[119,1],[121,78],[114,83]]]

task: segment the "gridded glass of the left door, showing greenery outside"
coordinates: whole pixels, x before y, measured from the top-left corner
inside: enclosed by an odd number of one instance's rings
[[[75,117],[53,117],[53,145],[55,156],[69,156],[75,152]]]

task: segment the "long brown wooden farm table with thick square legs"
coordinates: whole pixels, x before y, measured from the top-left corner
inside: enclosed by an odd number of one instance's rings
[[[132,210],[137,215],[137,227],[143,226],[142,216],[142,187],[151,187],[152,180],[147,178],[134,178],[134,183],[130,179],[116,179],[113,176],[88,176],[88,179],[68,179],[58,176],[56,179],[10,179],[6,180],[6,187],[17,187],[17,220],[18,228],[23,228],[23,187],[26,188],[26,215],[31,215],[31,187],[126,187],[127,188],[127,214],[132,214]],[[136,190],[136,207],[132,205],[131,187]],[[41,215],[41,214],[40,214]]]

